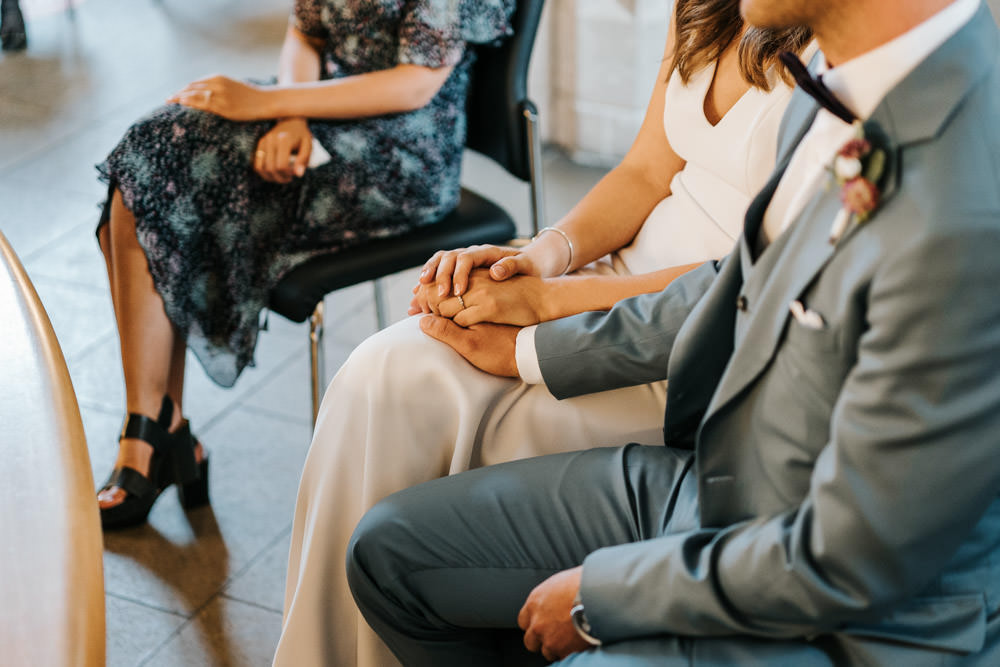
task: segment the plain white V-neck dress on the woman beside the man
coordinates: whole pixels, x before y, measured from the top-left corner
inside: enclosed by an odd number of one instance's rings
[[[791,90],[751,89],[716,125],[714,66],[666,91],[667,138],[685,167],[631,245],[579,273],[637,274],[728,253],[775,159]],[[323,399],[299,486],[275,665],[398,664],[368,628],[344,574],[361,515],[420,482],[513,459],[629,442],[662,443],[666,383],[557,401],[542,385],[483,373],[411,317],[354,350]]]

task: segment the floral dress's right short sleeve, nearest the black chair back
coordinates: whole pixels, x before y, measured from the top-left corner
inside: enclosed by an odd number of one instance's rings
[[[399,27],[399,62],[448,67],[466,42],[487,44],[512,33],[514,0],[410,0]]]

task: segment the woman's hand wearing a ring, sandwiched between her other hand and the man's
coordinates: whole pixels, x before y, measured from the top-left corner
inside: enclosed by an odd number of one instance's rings
[[[458,297],[439,300],[435,304],[436,313],[463,327],[480,322],[526,327],[546,319],[543,306],[547,281],[534,276],[515,276],[497,282],[490,275],[484,269],[473,271],[462,300]]]

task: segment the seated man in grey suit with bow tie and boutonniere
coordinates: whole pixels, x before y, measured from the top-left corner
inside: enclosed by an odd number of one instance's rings
[[[558,397],[667,377],[667,446],[372,509],[348,575],[405,665],[541,660],[522,641],[571,667],[1000,665],[996,25],[980,0],[741,5],[813,29],[846,113],[797,92],[732,254],[522,335],[535,371],[514,330],[425,323]]]

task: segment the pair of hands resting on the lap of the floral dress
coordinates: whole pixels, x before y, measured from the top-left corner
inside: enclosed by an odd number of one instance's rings
[[[269,91],[216,74],[199,79],[167,98],[167,103],[213,113],[234,121],[272,120],[267,115]],[[312,132],[305,118],[278,120],[254,151],[253,169],[265,181],[291,183],[305,175],[312,154]]]

